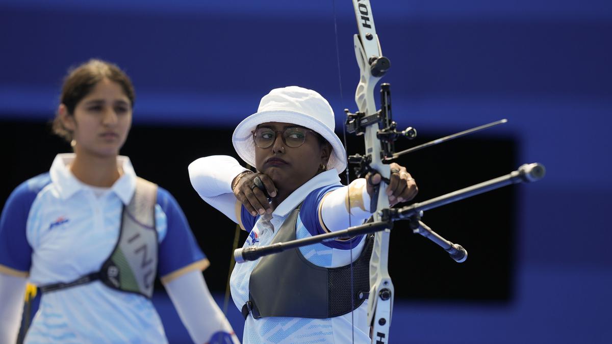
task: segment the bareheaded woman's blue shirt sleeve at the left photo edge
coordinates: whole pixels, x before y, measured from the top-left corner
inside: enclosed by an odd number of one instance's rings
[[[39,191],[37,179],[23,182],[13,190],[0,217],[0,272],[24,277],[32,264],[32,247],[26,237],[26,224]]]

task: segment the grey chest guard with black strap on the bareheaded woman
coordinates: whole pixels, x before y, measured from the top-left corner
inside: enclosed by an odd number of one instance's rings
[[[124,206],[119,239],[100,271],[72,282],[40,286],[43,293],[100,280],[110,288],[151,298],[157,274],[158,240],[155,229],[157,185],[136,178],[132,200]]]

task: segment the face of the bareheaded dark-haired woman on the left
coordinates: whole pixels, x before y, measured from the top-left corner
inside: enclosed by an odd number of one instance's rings
[[[132,104],[118,83],[105,78],[76,104],[73,115],[62,116],[62,121],[72,130],[76,154],[114,156],[130,131]]]

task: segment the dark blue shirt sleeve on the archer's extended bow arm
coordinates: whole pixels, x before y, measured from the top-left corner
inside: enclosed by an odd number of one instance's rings
[[[300,208],[300,220],[304,224],[305,228],[308,230],[308,233],[311,235],[328,233],[325,228],[321,225],[321,219],[319,219],[319,205],[321,201],[323,201],[323,197],[333,190],[336,190],[343,185],[330,185],[325,187],[320,187],[319,189],[313,190],[311,193],[306,196],[304,202],[302,203],[302,207]],[[346,215],[348,217],[348,214]],[[358,225],[359,223],[354,223],[353,225]],[[363,235],[352,237],[349,240],[331,240],[324,241],[321,244],[326,245],[332,249],[340,249],[340,250],[350,250],[359,244]]]

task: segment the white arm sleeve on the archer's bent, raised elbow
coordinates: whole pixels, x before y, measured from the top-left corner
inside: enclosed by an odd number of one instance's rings
[[[198,195],[213,208],[238,222],[237,200],[231,190],[231,182],[238,174],[248,170],[227,155],[200,158],[190,163],[188,170],[189,179]]]

